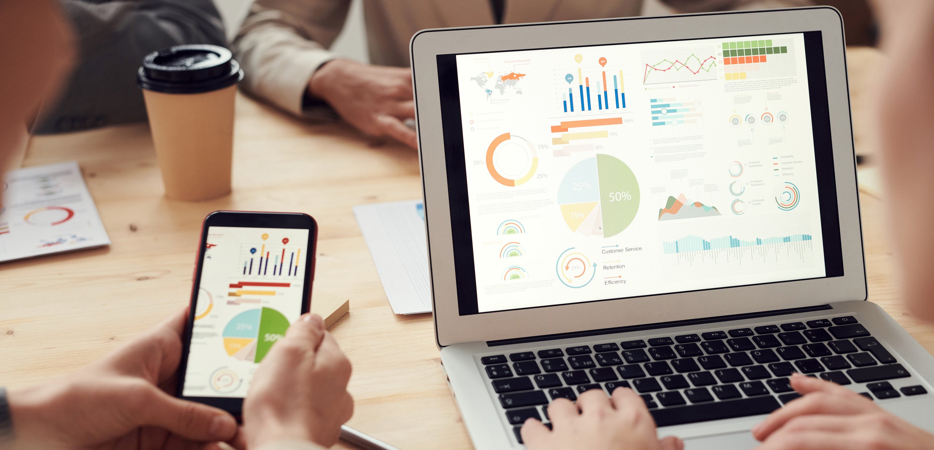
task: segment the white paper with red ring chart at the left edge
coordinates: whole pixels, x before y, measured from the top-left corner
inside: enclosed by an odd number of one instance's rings
[[[0,191],[0,261],[110,244],[78,162],[9,172]]]

